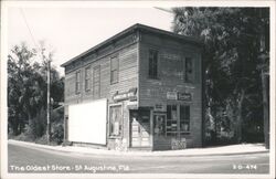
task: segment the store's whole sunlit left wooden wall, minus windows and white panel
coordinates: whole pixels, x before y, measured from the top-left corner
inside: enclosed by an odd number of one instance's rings
[[[65,117],[68,115],[68,105],[76,103],[84,103],[86,101],[95,101],[99,98],[108,99],[109,105],[114,104],[113,96],[116,93],[125,93],[130,88],[138,87],[138,51],[137,39],[130,34],[124,39],[115,41],[109,46],[91,54],[81,61],[76,61],[71,66],[65,69]],[[118,83],[110,83],[110,57],[117,55],[119,60]],[[91,90],[85,91],[85,69],[91,66]],[[99,66],[99,95],[93,93],[93,70]],[[76,72],[81,71],[81,92],[75,93]],[[124,108],[124,143],[129,140],[129,116],[127,110],[127,102],[120,103]],[[107,114],[109,116],[109,114]],[[88,116],[88,112],[87,112]],[[70,120],[70,116],[68,116]],[[107,131],[109,120],[107,124]],[[109,134],[107,134],[109,136]],[[121,137],[123,137],[121,136]],[[108,138],[108,146],[120,147],[123,140],[116,138]]]

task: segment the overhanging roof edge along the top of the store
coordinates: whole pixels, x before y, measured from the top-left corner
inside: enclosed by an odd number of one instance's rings
[[[169,31],[157,29],[157,28],[148,27],[148,25],[145,25],[145,24],[136,23],[136,24],[127,28],[126,30],[115,34],[114,36],[105,40],[104,42],[97,44],[96,46],[94,46],[94,48],[81,53],[79,55],[71,59],[70,61],[63,63],[61,66],[65,67],[66,65],[71,64],[72,62],[74,62],[76,60],[78,60],[79,57],[85,56],[85,55],[87,55],[89,53],[93,53],[93,52],[97,51],[98,49],[114,42],[115,40],[117,40],[117,39],[119,39],[119,38],[121,38],[124,35],[132,33],[135,30],[140,30],[140,31],[157,33],[157,34],[161,34],[161,35],[167,35],[167,36],[170,36],[170,38],[184,40],[184,41],[193,43],[193,44],[202,45],[202,43],[199,40],[194,39],[194,38],[184,36],[184,35],[173,33],[173,32],[169,32]]]

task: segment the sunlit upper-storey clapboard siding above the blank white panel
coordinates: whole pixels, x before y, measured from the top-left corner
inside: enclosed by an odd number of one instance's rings
[[[110,57],[118,56],[119,71],[118,83],[110,84]],[[126,48],[110,53],[97,61],[86,63],[82,67],[74,70],[65,75],[65,103],[81,103],[87,99],[108,98],[112,99],[113,95],[118,92],[127,92],[131,87],[138,86],[138,71],[137,71],[137,43],[127,45]],[[93,96],[93,69],[100,66],[100,83],[99,96]],[[85,91],[85,69],[91,66],[91,90]],[[75,74],[81,71],[81,93],[75,93]]]

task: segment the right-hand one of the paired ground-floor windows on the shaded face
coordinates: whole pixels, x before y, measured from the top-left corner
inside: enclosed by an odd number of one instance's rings
[[[190,131],[190,106],[180,105],[180,133]]]

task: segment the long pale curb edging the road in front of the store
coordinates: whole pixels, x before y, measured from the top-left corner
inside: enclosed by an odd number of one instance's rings
[[[82,150],[74,150],[74,148],[70,148],[70,150],[66,150],[68,148],[61,147],[61,146],[46,146],[41,144],[34,144],[34,143],[28,143],[28,141],[20,141],[20,140],[8,140],[8,144],[13,145],[20,145],[23,147],[34,147],[38,149],[46,149],[52,151],[62,151],[62,152],[73,152],[73,154],[82,154],[82,155],[113,155],[113,156],[132,156],[132,157],[203,157],[203,156],[234,156],[234,155],[250,155],[250,154],[266,154],[269,152],[268,149],[264,150],[255,150],[255,151],[241,151],[241,152],[216,152],[216,154],[166,154],[167,151],[113,151],[113,150],[106,150],[106,149],[93,149],[88,151],[82,151]],[[59,148],[55,148],[59,147]],[[71,150],[73,149],[73,150]],[[76,149],[76,148],[75,148]],[[158,154],[157,154],[158,152]],[[183,151],[181,151],[183,152]]]

